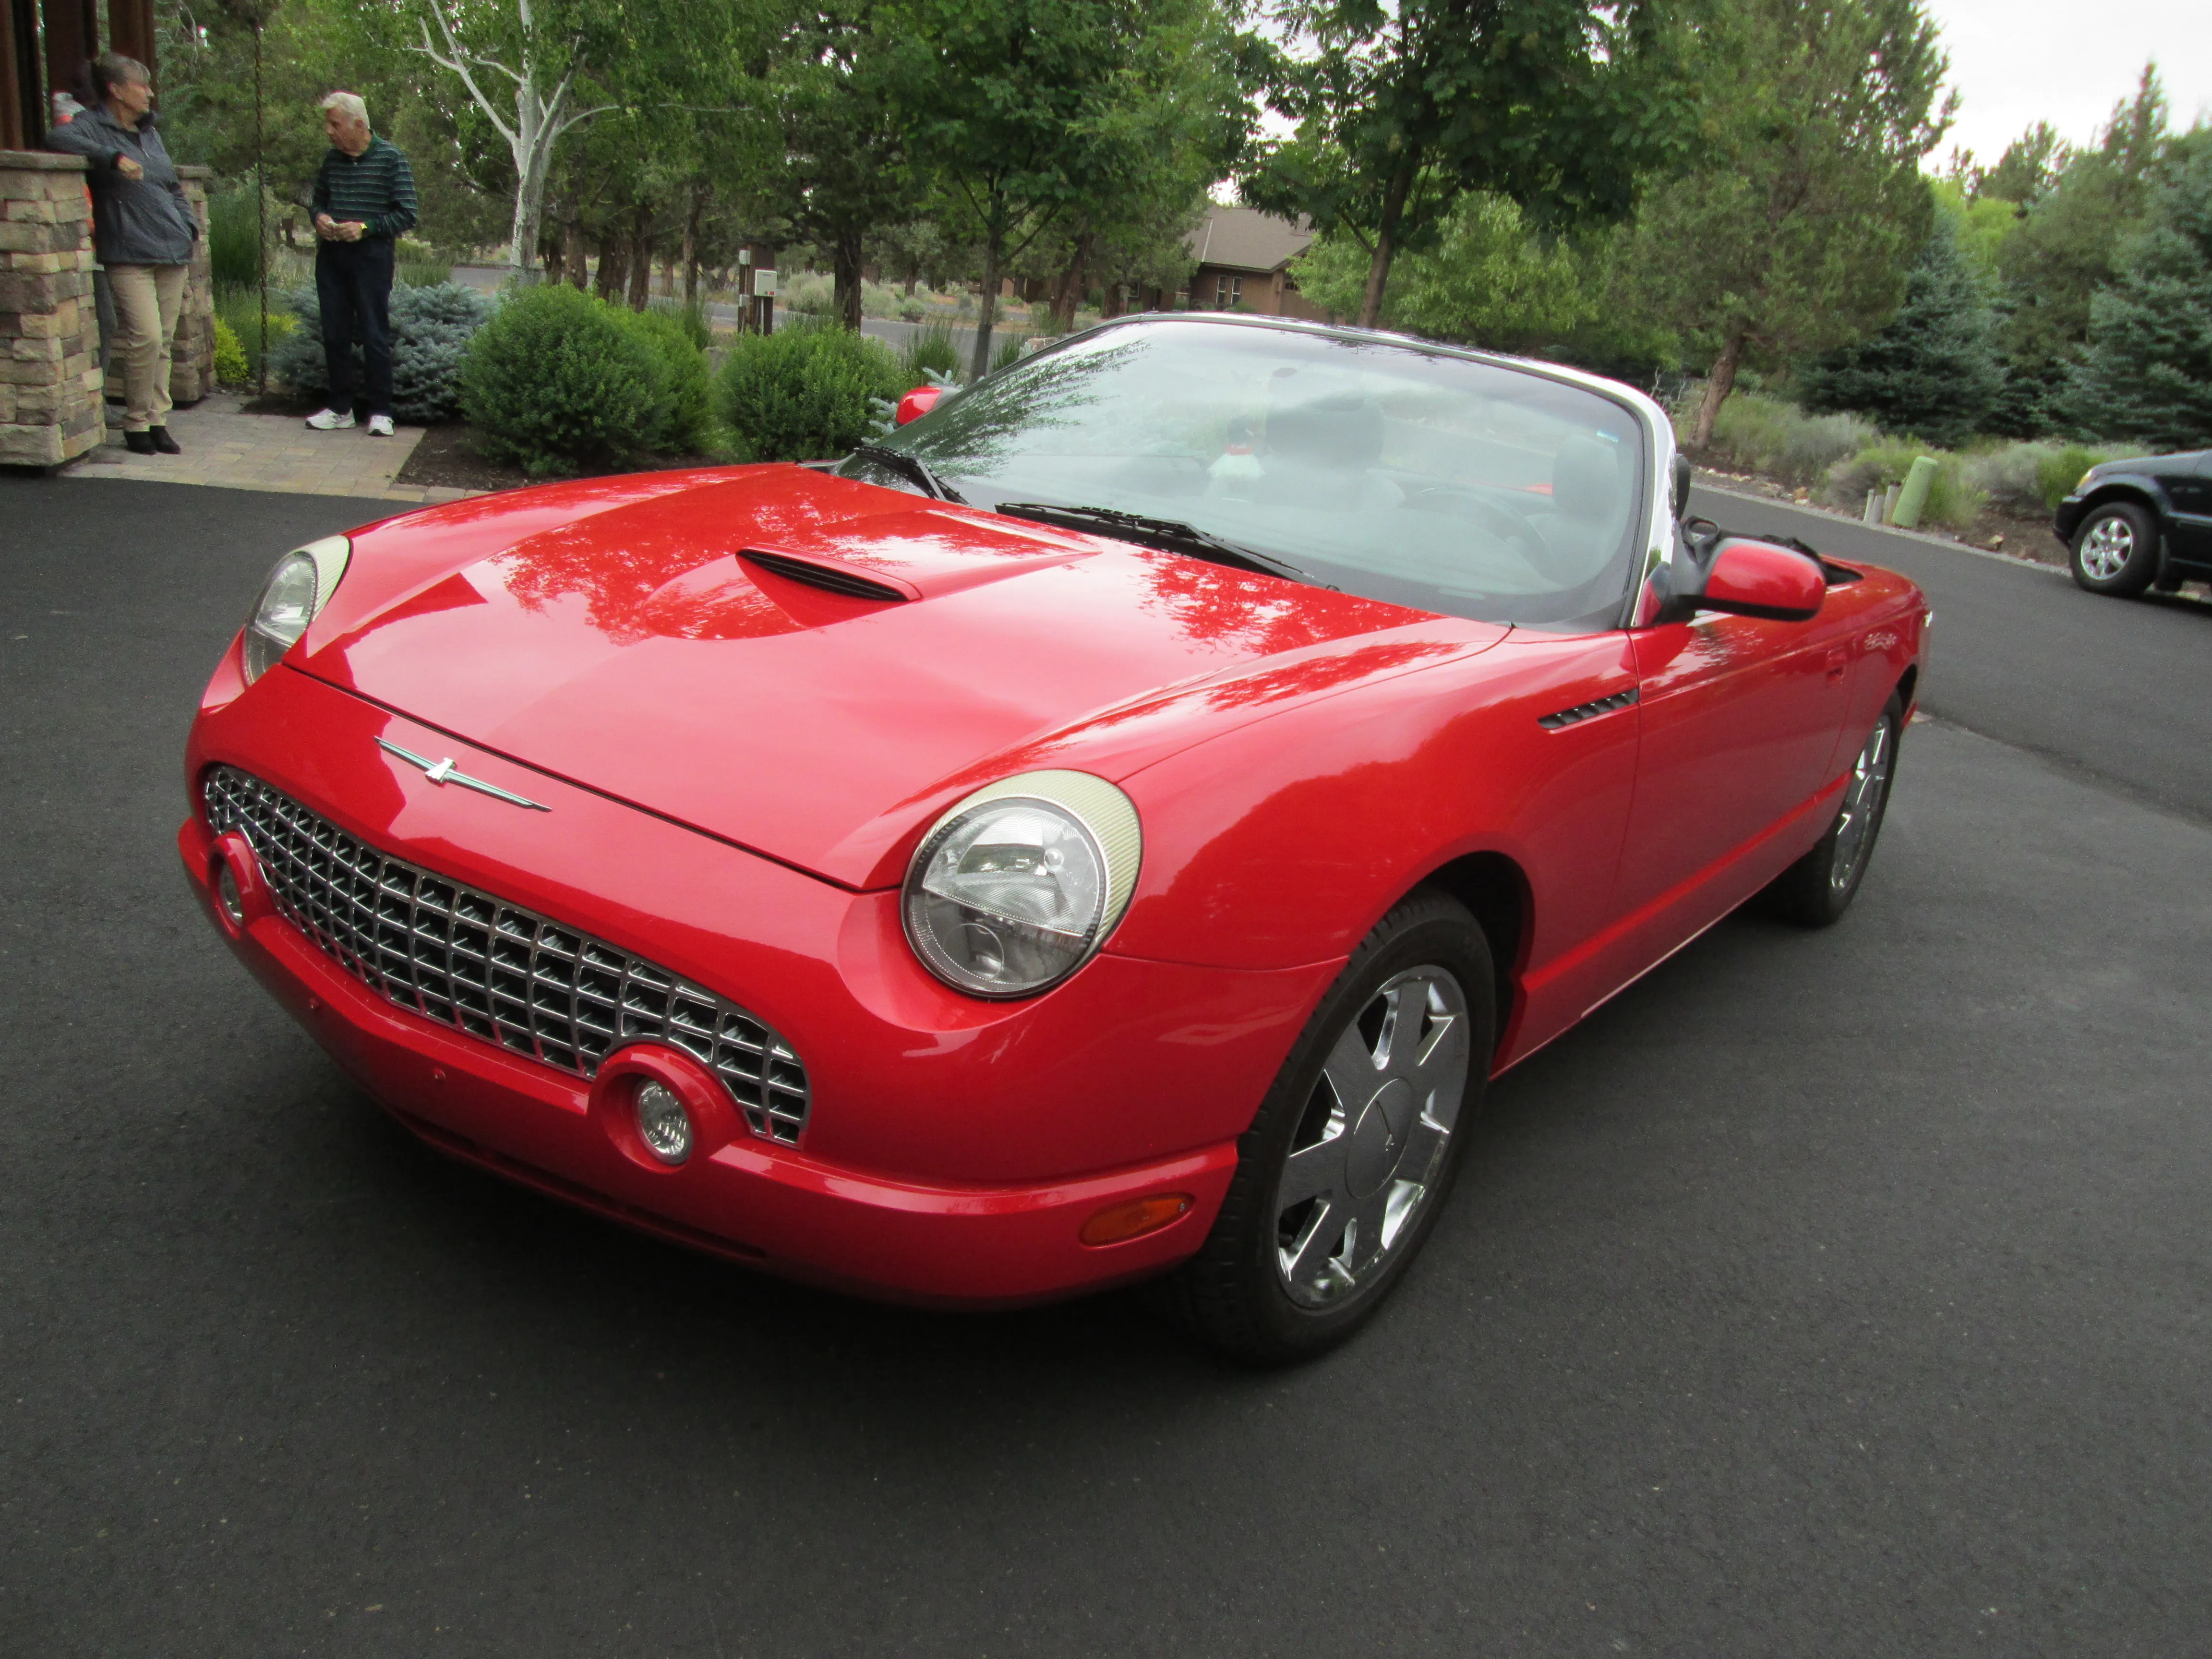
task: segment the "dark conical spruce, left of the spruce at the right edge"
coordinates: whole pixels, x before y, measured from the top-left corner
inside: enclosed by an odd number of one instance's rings
[[[1880,334],[1812,363],[1798,392],[1807,409],[1849,409],[1953,449],[1980,431],[1997,396],[1995,323],[1958,221],[1938,212],[1898,314]]]

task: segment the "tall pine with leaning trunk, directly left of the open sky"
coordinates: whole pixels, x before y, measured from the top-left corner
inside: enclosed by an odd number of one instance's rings
[[[1747,358],[1880,327],[1927,241],[1920,157],[1944,55],[1920,0],[1730,0],[1710,40],[1697,173],[1637,215],[1621,303],[1712,365],[1690,447]]]

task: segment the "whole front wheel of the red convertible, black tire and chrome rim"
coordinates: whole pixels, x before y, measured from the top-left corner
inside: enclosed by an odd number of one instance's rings
[[[1175,1323],[1241,1360],[1321,1354],[1405,1279],[1444,1208],[1495,1046],[1475,918],[1418,891],[1321,1000],[1237,1146],[1199,1254],[1161,1285]]]

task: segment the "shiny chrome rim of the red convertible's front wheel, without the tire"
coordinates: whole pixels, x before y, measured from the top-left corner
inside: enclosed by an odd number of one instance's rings
[[[1345,1024],[1276,1183],[1294,1303],[1340,1303],[1389,1265],[1444,1170],[1469,1055],[1467,993],[1440,967],[1385,980]]]

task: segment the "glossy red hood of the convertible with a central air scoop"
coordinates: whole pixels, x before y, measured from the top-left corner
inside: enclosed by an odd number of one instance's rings
[[[1013,770],[1126,776],[1506,628],[796,467],[356,533],[294,664],[852,887]]]

